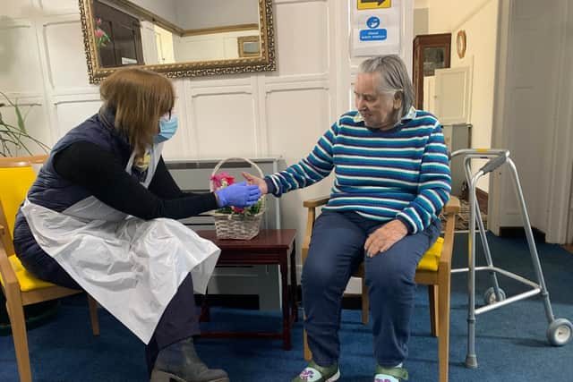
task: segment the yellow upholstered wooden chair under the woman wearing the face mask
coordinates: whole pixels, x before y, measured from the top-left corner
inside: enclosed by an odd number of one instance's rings
[[[24,306],[83,292],[38,280],[30,275],[14,256],[11,234],[14,219],[26,192],[36,178],[33,166],[41,166],[45,160],[46,156],[0,158],[0,282],[12,325],[21,382],[32,380]],[[98,305],[90,296],[88,302],[93,334],[99,335]]]

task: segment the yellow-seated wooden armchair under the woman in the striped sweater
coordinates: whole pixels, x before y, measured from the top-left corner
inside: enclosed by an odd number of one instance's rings
[[[308,218],[304,233],[303,263],[311,242],[312,226],[316,219],[316,208],[325,205],[328,201],[328,197],[304,200],[303,206],[308,208]],[[456,214],[458,212],[459,200],[456,197],[451,197],[442,211],[443,215],[446,216],[444,236],[438,238],[438,241],[426,251],[415,272],[415,282],[428,285],[432,335],[438,337],[440,382],[448,381],[449,273],[451,270],[451,252],[454,244]],[[362,320],[364,324],[367,324],[369,301],[368,290],[363,277],[363,264],[360,265],[353,276],[362,278]],[[312,354],[306,340],[306,331],[304,331],[304,359],[308,361],[311,358]]]

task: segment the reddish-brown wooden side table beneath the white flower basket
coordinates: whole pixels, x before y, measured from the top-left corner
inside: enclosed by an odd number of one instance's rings
[[[197,233],[214,242],[221,249],[217,265],[278,265],[282,285],[283,327],[280,333],[261,332],[203,332],[204,337],[267,337],[282,338],[283,349],[290,350],[291,327],[298,319],[296,301],[296,259],[294,229],[261,230],[251,240],[218,240],[214,230],[200,230]],[[288,287],[288,262],[290,261],[290,287]]]

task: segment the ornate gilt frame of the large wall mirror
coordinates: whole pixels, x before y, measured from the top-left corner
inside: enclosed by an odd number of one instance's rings
[[[154,72],[165,73],[167,77],[171,78],[275,71],[277,64],[275,59],[275,29],[272,15],[272,0],[259,0],[259,10],[261,11],[259,13],[259,22],[261,25],[261,55],[259,56],[180,64],[140,65],[139,67]],[[99,83],[118,68],[102,68],[99,66],[97,47],[93,34],[94,18],[91,9],[91,0],[80,0],[80,18],[90,83]]]

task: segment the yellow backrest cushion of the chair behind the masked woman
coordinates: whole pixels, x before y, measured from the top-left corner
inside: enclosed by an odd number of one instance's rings
[[[21,202],[36,179],[31,166],[0,168],[0,199],[8,221],[8,232],[12,236],[14,220]]]

